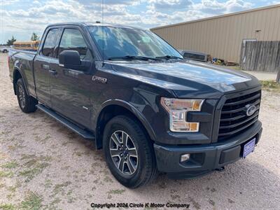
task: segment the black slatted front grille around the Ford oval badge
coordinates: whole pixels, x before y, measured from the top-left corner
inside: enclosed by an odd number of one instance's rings
[[[245,129],[258,120],[260,109],[260,90],[240,97],[227,99],[221,111],[218,140],[226,139]],[[246,105],[255,105],[256,111],[252,116],[246,115]]]

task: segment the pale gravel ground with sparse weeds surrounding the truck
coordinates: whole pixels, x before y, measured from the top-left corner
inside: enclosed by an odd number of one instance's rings
[[[92,209],[94,203],[188,203],[190,209],[280,209],[280,94],[263,92],[262,139],[245,160],[200,179],[118,183],[94,143],[41,111],[20,111],[0,54],[0,209]]]

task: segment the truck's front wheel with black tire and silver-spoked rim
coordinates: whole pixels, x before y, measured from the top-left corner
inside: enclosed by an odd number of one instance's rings
[[[132,118],[116,116],[107,123],[103,148],[111,173],[123,186],[138,188],[155,179],[153,144]]]

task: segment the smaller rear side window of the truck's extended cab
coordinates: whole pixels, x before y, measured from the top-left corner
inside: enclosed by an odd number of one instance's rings
[[[57,43],[57,31],[58,29],[50,29],[45,38],[42,53],[47,57],[54,57],[55,45]]]

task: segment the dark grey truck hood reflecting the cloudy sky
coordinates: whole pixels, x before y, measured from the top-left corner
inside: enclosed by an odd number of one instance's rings
[[[112,69],[142,82],[171,89],[176,97],[219,98],[260,85],[242,71],[202,62],[112,62]]]

